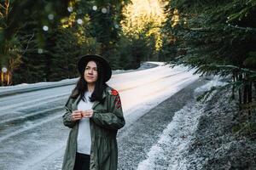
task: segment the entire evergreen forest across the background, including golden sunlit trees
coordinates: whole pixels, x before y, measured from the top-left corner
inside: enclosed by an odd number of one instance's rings
[[[82,54],[101,54],[113,70],[165,61],[226,77],[201,99],[232,90],[256,132],[255,0],[0,2],[1,86],[78,77]]]

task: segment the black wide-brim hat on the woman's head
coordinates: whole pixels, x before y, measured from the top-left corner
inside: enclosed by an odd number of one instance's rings
[[[84,75],[84,68],[86,66],[85,64],[88,63],[90,60],[98,61],[99,63],[102,64],[104,82],[108,82],[108,80],[112,76],[112,70],[110,65],[108,64],[108,61],[100,55],[89,54],[89,55],[81,56],[78,62],[78,69],[79,69],[80,75]]]

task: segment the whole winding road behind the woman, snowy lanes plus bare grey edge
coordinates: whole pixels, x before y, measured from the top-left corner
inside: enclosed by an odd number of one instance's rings
[[[138,82],[135,76],[135,74],[142,74],[144,71],[125,74],[126,78],[120,75],[120,77],[117,76],[113,79],[122,80],[116,82],[122,82],[122,85],[119,86],[124,88],[122,93],[126,104],[143,102],[141,100],[131,101],[131,97],[138,98],[138,92],[144,96],[144,99],[148,99],[145,96],[155,97],[167,88],[181,89],[151,111],[141,111],[141,114],[137,112],[136,116],[132,113],[125,115],[126,125],[118,134],[119,169],[137,168],[138,162],[145,159],[149,148],[158,139],[166,125],[172,122],[175,111],[180,110],[183,105],[189,102],[189,99],[193,99],[193,90],[204,83],[200,79],[193,82],[195,78],[189,77],[186,72],[172,73],[172,70],[166,69],[168,68],[153,69],[152,71],[157,75],[153,77],[152,73],[149,74],[151,77],[144,82]],[[155,82],[153,82],[154,79]],[[131,82],[134,80],[137,84],[124,82],[124,80]],[[147,88],[145,88],[147,86],[149,94],[146,94],[148,93]],[[139,88],[135,90],[137,87]],[[72,88],[73,86],[49,88],[42,92],[30,92],[0,99],[1,169],[61,169],[69,132],[69,129],[62,125],[62,107]],[[155,89],[155,92],[152,89]],[[59,95],[52,95],[56,92]],[[137,94],[137,96],[131,94]],[[134,107],[133,105],[128,106],[130,106],[129,108]],[[150,108],[152,107],[150,106]]]

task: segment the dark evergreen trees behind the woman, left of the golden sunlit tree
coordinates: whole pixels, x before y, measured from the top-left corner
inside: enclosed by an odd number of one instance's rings
[[[101,54],[113,69],[137,68],[141,59],[127,53],[127,48],[137,47],[130,40],[130,45],[123,44],[126,37],[120,26],[123,7],[128,3],[2,0],[2,85],[78,77],[76,62],[81,54]]]

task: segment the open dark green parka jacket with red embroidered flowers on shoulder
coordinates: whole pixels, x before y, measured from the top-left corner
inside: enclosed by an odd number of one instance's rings
[[[125,126],[119,94],[113,88],[107,87],[103,92],[106,98],[103,104],[95,101],[94,111],[90,117],[90,170],[116,170],[118,164],[118,147],[116,135],[119,128]],[[73,122],[72,111],[78,109],[79,100],[69,98],[65,105],[66,112],[62,116],[65,126],[70,127],[67,139],[62,170],[73,170],[77,150],[79,121]]]

